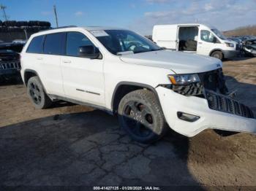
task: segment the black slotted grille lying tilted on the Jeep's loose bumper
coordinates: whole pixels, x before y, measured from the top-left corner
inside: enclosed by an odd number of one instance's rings
[[[205,96],[210,109],[236,114],[241,117],[254,118],[253,112],[248,106],[245,106],[232,98],[207,89],[205,89]]]

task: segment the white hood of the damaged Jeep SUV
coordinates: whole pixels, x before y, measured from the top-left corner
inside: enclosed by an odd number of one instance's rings
[[[222,67],[222,62],[217,58],[171,50],[121,55],[120,59],[125,63],[170,69],[176,74],[200,73]]]

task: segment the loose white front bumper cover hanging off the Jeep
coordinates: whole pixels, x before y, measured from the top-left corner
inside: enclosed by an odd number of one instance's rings
[[[207,128],[256,133],[256,120],[231,112],[210,109],[205,98],[184,96],[165,87],[156,88],[165,120],[170,128],[184,136],[195,136]],[[177,112],[199,116],[195,122],[178,119]]]

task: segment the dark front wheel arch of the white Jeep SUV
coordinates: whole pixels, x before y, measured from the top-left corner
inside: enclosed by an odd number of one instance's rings
[[[111,110],[113,114],[117,113],[118,104],[120,103],[121,98],[123,98],[124,95],[127,95],[127,93],[130,93],[134,90],[140,90],[140,89],[151,90],[156,96],[157,101],[159,102],[159,106],[161,107],[157,91],[151,85],[146,85],[138,82],[118,82],[118,84],[116,85],[113,91],[112,99],[111,99]]]

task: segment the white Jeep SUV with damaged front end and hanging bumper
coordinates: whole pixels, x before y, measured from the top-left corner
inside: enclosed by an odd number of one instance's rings
[[[168,127],[184,136],[206,128],[256,132],[252,111],[227,93],[221,61],[162,50],[132,31],[42,31],[26,43],[21,66],[36,108],[64,100],[104,109],[143,143]]]

